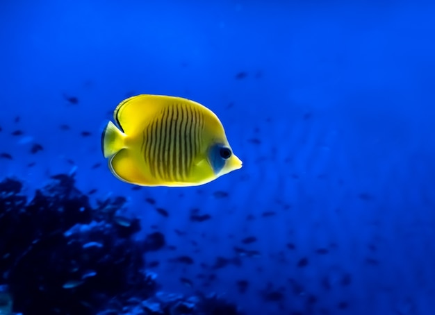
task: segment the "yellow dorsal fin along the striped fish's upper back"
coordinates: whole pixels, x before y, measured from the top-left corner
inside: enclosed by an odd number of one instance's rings
[[[140,94],[117,105],[113,118],[124,133],[131,136],[142,132],[143,127],[149,124],[165,107],[174,103],[186,103],[186,101],[195,103],[175,96]]]

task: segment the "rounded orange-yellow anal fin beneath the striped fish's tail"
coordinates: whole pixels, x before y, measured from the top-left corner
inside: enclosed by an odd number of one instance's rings
[[[108,164],[113,175],[124,182],[142,186],[155,185],[153,178],[146,176],[141,170],[138,157],[128,148],[123,148],[113,155]]]

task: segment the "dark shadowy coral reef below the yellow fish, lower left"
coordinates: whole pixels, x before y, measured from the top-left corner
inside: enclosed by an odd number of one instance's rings
[[[143,254],[164,239],[133,239],[140,221],[119,215],[124,197],[94,208],[74,184],[74,173],[52,176],[29,201],[19,180],[0,182],[5,314],[241,314],[215,293],[159,291]]]

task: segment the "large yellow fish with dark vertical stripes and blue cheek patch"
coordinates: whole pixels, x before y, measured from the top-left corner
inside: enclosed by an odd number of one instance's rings
[[[204,105],[181,97],[122,101],[101,135],[110,171],[141,186],[197,186],[242,167],[224,127]]]

